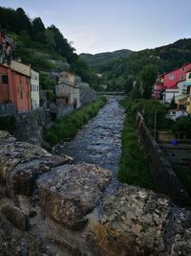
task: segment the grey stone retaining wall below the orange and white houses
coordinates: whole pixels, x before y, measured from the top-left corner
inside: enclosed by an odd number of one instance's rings
[[[40,107],[29,112],[16,115],[15,137],[20,141],[27,141],[41,145],[43,140],[43,126],[46,124],[45,108]]]

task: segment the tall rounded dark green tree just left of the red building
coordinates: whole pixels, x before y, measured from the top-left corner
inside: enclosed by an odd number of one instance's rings
[[[139,72],[139,78],[142,85],[142,98],[150,99],[153,85],[158,76],[158,69],[156,66],[150,64],[144,66]]]

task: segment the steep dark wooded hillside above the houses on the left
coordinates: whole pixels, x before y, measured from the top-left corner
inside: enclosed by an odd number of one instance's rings
[[[84,81],[94,81],[91,68],[54,25],[45,28],[40,17],[31,19],[22,8],[3,7],[0,24],[1,30],[13,39],[13,58],[21,58],[37,70],[69,70]]]

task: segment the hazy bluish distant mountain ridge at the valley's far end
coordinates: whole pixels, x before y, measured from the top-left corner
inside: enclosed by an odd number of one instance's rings
[[[80,57],[87,61],[91,66],[99,65],[102,62],[115,58],[128,58],[133,51],[128,49],[121,49],[114,52],[105,52],[98,54],[80,54]]]

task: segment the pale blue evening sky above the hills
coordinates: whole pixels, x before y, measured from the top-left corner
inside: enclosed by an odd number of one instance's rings
[[[191,37],[191,0],[0,0],[55,25],[76,53],[139,51]]]

